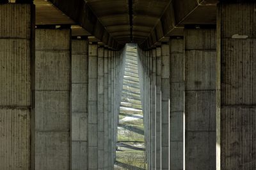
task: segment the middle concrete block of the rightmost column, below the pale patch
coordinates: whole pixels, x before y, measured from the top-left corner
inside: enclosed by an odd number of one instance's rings
[[[256,40],[223,39],[221,104],[256,104]]]

